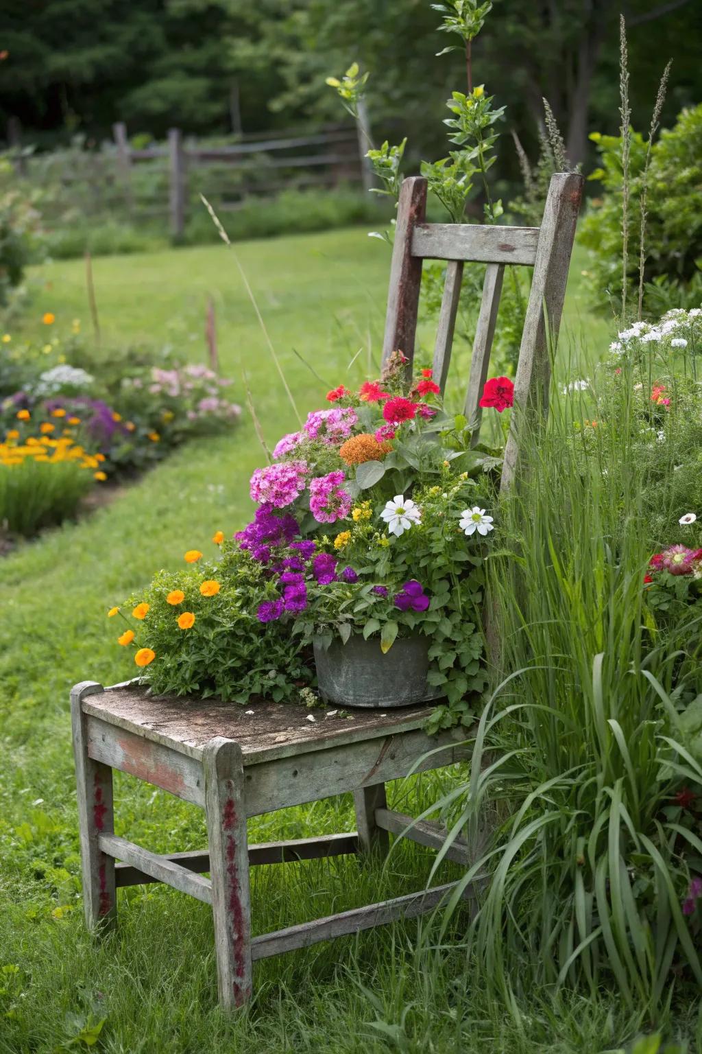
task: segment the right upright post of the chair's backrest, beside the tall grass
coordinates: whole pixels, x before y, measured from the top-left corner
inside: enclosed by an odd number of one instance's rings
[[[555,347],[558,339],[583,182],[577,172],[558,172],[550,177],[519,349],[515,409],[502,469],[503,493],[515,480],[524,425],[538,422],[548,410],[548,345],[550,341]]]

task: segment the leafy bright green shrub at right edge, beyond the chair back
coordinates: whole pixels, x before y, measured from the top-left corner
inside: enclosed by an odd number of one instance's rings
[[[600,168],[590,179],[601,182],[604,194],[590,204],[580,231],[580,240],[590,251],[588,286],[593,302],[602,304],[606,292],[617,305],[622,279],[622,163],[618,136],[594,133],[590,138],[600,153]],[[630,141],[630,193],[628,211],[629,269],[631,291],[638,284],[639,200],[643,191],[643,167],[646,145],[635,133]],[[651,147],[647,174],[647,221],[644,278],[657,279],[646,286],[644,304],[650,313],[681,306],[663,302],[666,282],[683,288],[697,279],[696,261],[702,256],[702,104],[683,110],[671,129],[664,129]],[[673,287],[675,288],[675,286]],[[650,302],[649,302],[650,301]],[[683,305],[684,306],[684,305]]]

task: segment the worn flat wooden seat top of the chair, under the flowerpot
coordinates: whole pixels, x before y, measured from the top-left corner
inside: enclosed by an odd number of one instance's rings
[[[242,706],[214,698],[154,696],[138,681],[86,696],[82,708],[106,724],[197,760],[215,737],[234,740],[244,766],[412,731],[421,728],[432,713],[426,705],[310,710],[299,703],[264,699]]]

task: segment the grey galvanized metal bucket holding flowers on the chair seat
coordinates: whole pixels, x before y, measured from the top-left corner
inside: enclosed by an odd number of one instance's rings
[[[429,642],[425,637],[395,641],[385,655],[378,638],[350,637],[324,648],[315,640],[319,694],[325,703],[387,709],[437,697],[426,683]]]

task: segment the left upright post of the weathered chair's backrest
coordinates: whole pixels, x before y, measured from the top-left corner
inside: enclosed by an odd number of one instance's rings
[[[409,176],[402,183],[398,203],[383,339],[383,365],[394,351],[401,351],[409,359],[406,370],[408,379],[412,378],[415,356],[419,287],[422,281],[422,260],[412,255],[412,233],[416,223],[424,221],[425,212],[426,179]]]

